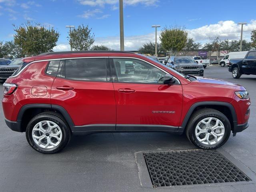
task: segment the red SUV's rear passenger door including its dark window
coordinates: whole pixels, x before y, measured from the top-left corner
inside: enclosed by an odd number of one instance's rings
[[[115,130],[116,102],[108,58],[62,60],[51,103],[65,108],[74,131]]]

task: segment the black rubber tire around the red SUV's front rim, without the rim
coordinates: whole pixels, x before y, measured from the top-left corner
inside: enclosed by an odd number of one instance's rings
[[[216,144],[203,144],[196,138],[196,126],[198,123],[209,117],[214,117],[220,120],[225,128],[224,136],[218,141]],[[196,111],[190,118],[188,125],[186,127],[186,136],[188,140],[195,146],[202,148],[202,149],[216,149],[222,146],[229,138],[231,132],[231,125],[228,118],[221,112],[211,108],[204,108]]]

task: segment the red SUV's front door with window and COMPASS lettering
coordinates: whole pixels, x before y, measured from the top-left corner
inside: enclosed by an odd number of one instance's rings
[[[112,58],[116,130],[178,130],[182,86],[164,85],[163,70],[132,58]]]

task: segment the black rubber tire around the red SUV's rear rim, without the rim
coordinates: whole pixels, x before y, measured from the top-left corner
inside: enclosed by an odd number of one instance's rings
[[[45,121],[45,120],[49,120],[49,121],[56,123],[59,126],[60,130],[62,131],[62,139],[61,139],[60,143],[58,144],[58,146],[56,146],[52,149],[45,149],[45,148],[38,146],[32,138],[32,130],[33,130],[34,126],[38,122]],[[67,144],[71,138],[71,131],[70,131],[68,124],[62,117],[62,115],[60,115],[56,112],[43,112],[43,113],[40,113],[40,114],[34,116],[34,118],[32,118],[30,120],[30,122],[28,123],[28,126],[26,128],[26,138],[27,138],[28,143],[34,150],[36,150],[40,153],[52,154],[52,153],[60,152],[62,149],[64,149],[67,146]]]

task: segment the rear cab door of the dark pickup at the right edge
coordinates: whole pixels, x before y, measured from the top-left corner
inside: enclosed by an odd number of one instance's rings
[[[256,51],[250,51],[242,63],[242,71],[248,74],[256,74]]]

